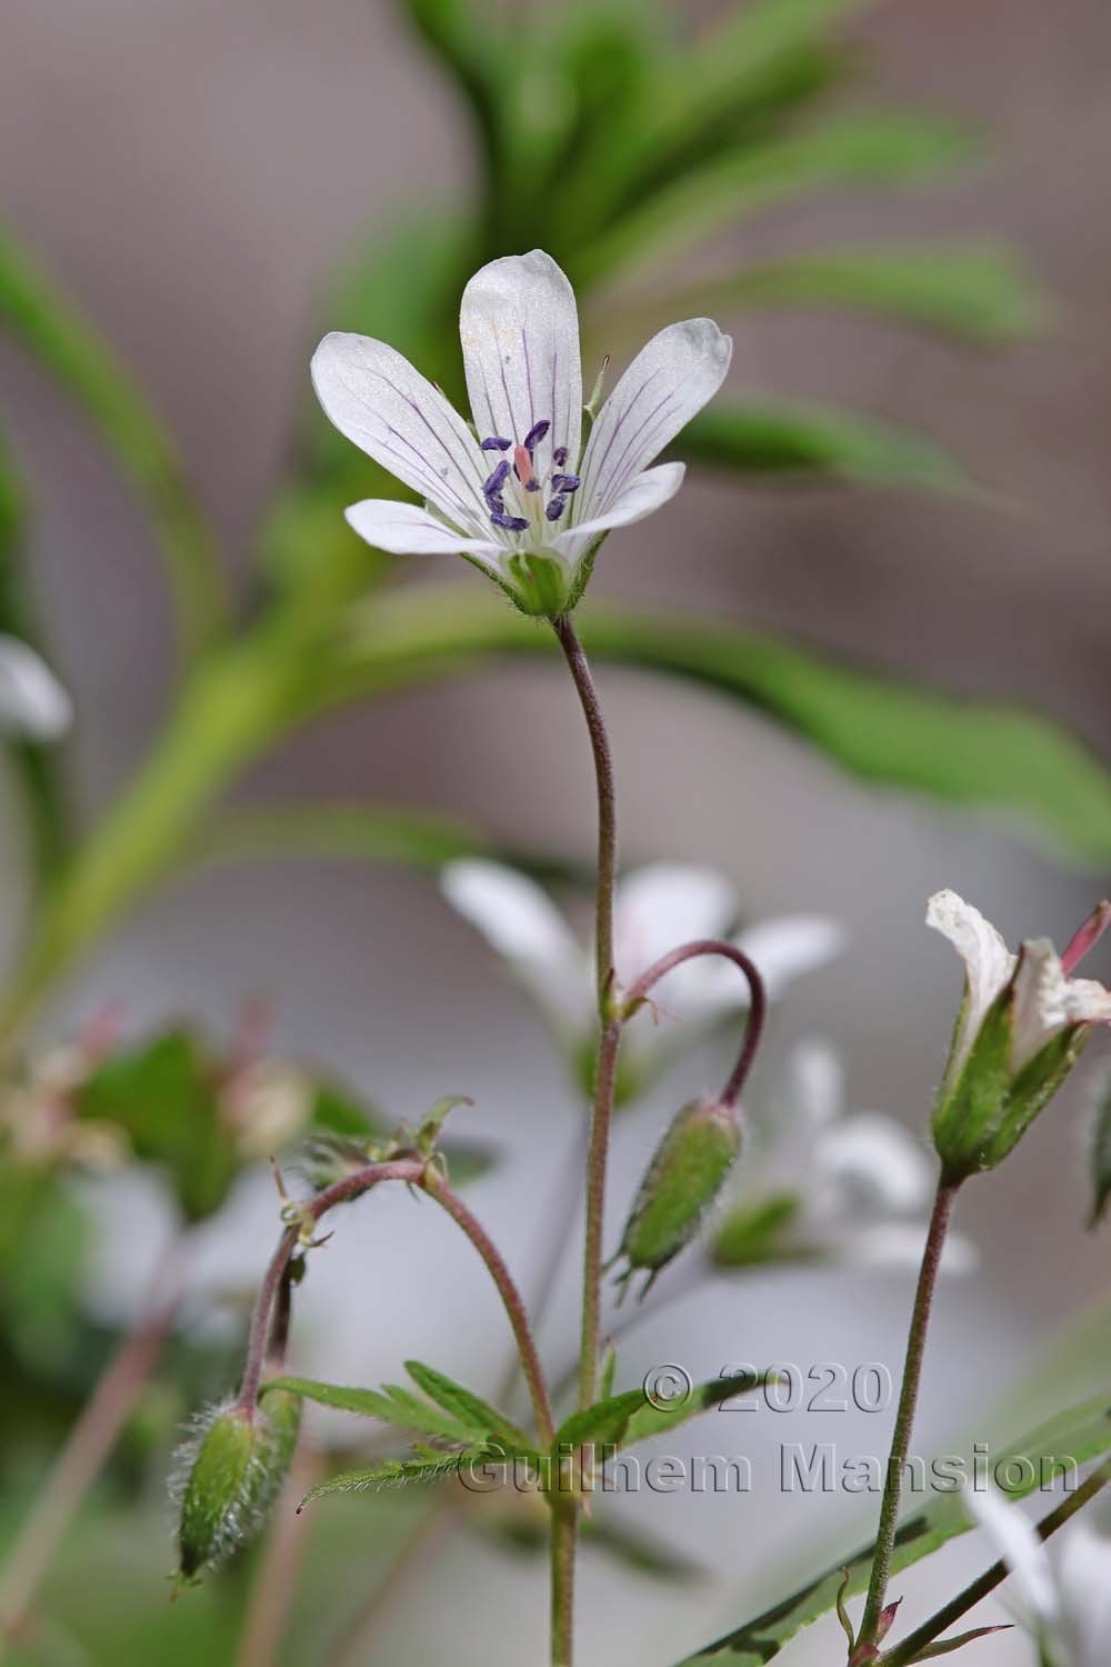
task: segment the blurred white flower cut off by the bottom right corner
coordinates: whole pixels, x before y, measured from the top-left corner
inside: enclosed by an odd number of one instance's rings
[[[1019,1617],[1053,1667],[1106,1667],[1111,1649],[1111,1534],[1076,1517],[1046,1547],[994,1487],[964,1489],[969,1515],[1011,1570]],[[1101,1524],[1104,1527],[1104,1524]]]

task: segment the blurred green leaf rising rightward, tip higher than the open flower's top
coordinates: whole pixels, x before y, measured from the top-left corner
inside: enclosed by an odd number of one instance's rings
[[[623,215],[585,252],[576,277],[596,282],[630,267],[636,277],[743,215],[810,192],[929,180],[964,160],[971,137],[916,115],[851,115],[705,163]]]

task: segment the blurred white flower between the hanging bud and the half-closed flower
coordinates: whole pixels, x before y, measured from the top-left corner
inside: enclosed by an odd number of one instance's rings
[[[828,1044],[793,1049],[775,1097],[750,1119],[745,1154],[740,1192],[713,1240],[718,1264],[918,1267],[936,1164],[894,1119],[846,1115],[844,1075]],[[949,1235],[943,1269],[974,1265],[973,1245]]]

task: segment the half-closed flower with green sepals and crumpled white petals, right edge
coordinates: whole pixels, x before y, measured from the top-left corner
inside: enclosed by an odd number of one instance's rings
[[[1111,920],[1099,904],[1068,949],[1031,939],[1013,955],[996,929],[956,892],[929,899],[926,924],[964,962],[964,1000],[933,1119],[949,1180],[994,1169],[1058,1092],[1111,992],[1073,972]]]

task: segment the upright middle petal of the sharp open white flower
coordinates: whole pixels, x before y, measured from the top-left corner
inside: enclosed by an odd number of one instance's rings
[[[536,473],[548,473],[561,445],[573,473],[583,422],[578,308],[551,255],[533,248],[476,272],[463,290],[460,342],[480,438],[521,443],[533,423],[550,422],[533,452]]]

